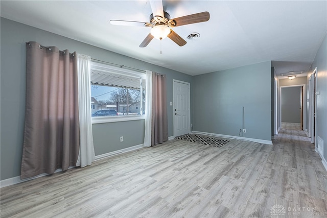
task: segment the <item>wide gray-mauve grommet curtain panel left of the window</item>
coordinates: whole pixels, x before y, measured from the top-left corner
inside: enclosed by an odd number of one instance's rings
[[[21,179],[65,171],[75,166],[79,153],[76,55],[37,42],[27,42],[26,49]]]

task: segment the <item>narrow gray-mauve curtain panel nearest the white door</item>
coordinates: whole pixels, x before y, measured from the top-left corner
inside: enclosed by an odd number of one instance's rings
[[[151,146],[168,141],[166,75],[152,72]]]

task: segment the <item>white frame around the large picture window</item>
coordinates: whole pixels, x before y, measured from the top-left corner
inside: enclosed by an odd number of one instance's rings
[[[129,69],[124,69],[120,67],[114,67],[102,63],[92,62],[91,61],[91,70],[100,70],[105,72],[112,72],[114,74],[120,74],[124,76],[138,77],[146,79],[146,75],[143,72],[137,72]],[[91,84],[90,84],[91,85]],[[143,84],[142,84],[143,85]],[[143,85],[144,86],[144,85]],[[145,86],[144,86],[145,87]],[[142,95],[141,95],[142,101]],[[142,107],[142,104],[141,104]],[[141,120],[145,119],[145,115],[127,115],[127,116],[117,116],[117,117],[92,117],[92,124],[103,124],[103,123],[113,123],[113,122],[125,122],[130,120]]]

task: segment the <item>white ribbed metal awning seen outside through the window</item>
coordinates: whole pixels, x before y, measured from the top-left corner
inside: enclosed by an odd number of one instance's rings
[[[144,79],[142,79],[142,83],[145,84]],[[91,84],[139,89],[140,78],[92,69]]]

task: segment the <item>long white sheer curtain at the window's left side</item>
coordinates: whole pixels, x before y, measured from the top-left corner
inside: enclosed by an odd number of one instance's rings
[[[91,165],[96,156],[91,123],[90,62],[91,57],[77,54],[80,151],[76,165],[81,167]]]

